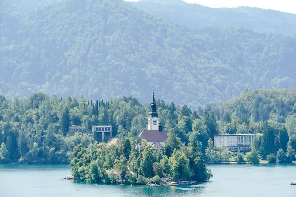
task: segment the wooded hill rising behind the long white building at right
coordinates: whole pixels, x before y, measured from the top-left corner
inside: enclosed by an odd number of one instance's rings
[[[295,114],[296,89],[246,90],[223,103],[216,112],[221,122],[234,121],[237,125],[247,125],[249,130],[263,121],[284,124],[290,135],[296,133]]]

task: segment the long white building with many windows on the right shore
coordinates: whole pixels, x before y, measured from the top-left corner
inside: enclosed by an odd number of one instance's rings
[[[229,151],[250,151],[255,134],[214,135],[214,147],[224,147]]]

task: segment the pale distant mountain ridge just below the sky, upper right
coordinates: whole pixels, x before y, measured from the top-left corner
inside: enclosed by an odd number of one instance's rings
[[[181,0],[142,0],[132,5],[164,20],[192,29],[231,26],[261,33],[296,35],[296,14],[260,8],[210,8]]]

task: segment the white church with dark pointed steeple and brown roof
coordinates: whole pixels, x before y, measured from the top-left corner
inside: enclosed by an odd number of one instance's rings
[[[139,134],[140,139],[145,139],[148,145],[151,145],[154,149],[161,150],[162,145],[165,144],[167,140],[166,130],[162,128],[162,124],[159,121],[155,95],[153,91],[151,110],[148,117],[147,129],[143,130]]]

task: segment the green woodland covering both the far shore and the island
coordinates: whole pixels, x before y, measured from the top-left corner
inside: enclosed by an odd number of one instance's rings
[[[246,90],[220,106],[207,104],[197,110],[157,99],[160,121],[168,133],[160,153],[137,138],[147,125],[149,104],[135,97],[104,101],[44,93],[14,99],[0,96],[0,164],[70,163],[79,180],[144,184],[163,177],[207,181],[212,176],[206,167],[210,163],[292,162],[295,98],[295,89]],[[68,133],[70,125],[100,124],[112,125],[113,137],[121,144],[94,142],[91,133]],[[215,148],[213,134],[226,133],[257,134],[252,151]]]

